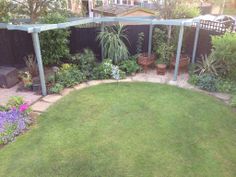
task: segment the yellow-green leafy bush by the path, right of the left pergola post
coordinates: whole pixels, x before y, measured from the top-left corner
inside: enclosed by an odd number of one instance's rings
[[[56,73],[56,83],[63,87],[72,87],[85,80],[85,76],[76,65],[63,64],[60,70]]]

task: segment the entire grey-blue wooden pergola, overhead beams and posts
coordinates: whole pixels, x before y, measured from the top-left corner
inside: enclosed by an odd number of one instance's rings
[[[89,24],[89,23],[100,23],[102,24],[101,30],[104,30],[105,23],[114,23],[114,22],[149,25],[149,39],[148,39],[148,55],[149,56],[151,55],[151,51],[152,51],[153,26],[154,25],[165,25],[169,27],[179,26],[180,31],[179,31],[178,47],[176,51],[176,65],[175,65],[175,71],[174,71],[174,77],[173,77],[174,81],[177,81],[177,76],[178,76],[179,61],[180,61],[183,35],[184,35],[184,27],[195,26],[196,32],[195,32],[194,46],[193,46],[192,59],[191,59],[192,63],[195,62],[199,31],[200,31],[200,20],[195,20],[195,19],[163,20],[163,19],[143,18],[143,17],[97,17],[97,18],[79,18],[74,21],[58,23],[58,24],[13,25],[13,24],[7,24],[7,23],[0,23],[0,29],[26,31],[32,34],[34,51],[35,51],[38,68],[39,68],[39,77],[40,77],[40,83],[42,87],[42,94],[47,95],[44,68],[43,68],[42,55],[41,55],[41,49],[40,49],[39,33],[43,31],[64,29],[64,28],[69,28],[72,26],[78,26],[78,25]]]

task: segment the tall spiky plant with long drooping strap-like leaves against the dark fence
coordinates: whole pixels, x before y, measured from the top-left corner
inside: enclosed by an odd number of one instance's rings
[[[120,60],[128,58],[129,51],[124,41],[128,42],[126,31],[123,25],[106,26],[104,31],[101,31],[97,40],[100,45],[103,45],[104,57],[110,58],[117,64]]]

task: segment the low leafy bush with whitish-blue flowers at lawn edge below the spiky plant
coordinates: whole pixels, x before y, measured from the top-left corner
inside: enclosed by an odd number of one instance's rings
[[[113,72],[114,68],[116,66],[112,64],[111,59],[105,59],[100,65],[98,65],[96,68],[94,68],[93,73],[93,79],[110,79],[113,78]],[[125,72],[119,70],[119,76],[120,79],[125,78]]]

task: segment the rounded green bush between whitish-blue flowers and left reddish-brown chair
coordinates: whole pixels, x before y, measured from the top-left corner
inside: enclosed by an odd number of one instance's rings
[[[131,75],[132,73],[136,73],[140,70],[140,67],[136,62],[136,58],[130,58],[128,60],[121,61],[119,68],[127,75]]]

